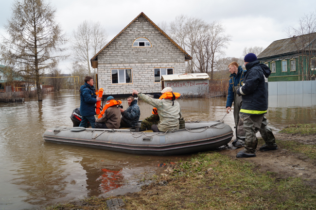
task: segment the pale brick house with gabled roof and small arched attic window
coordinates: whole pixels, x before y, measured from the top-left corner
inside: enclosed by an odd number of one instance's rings
[[[140,13],[90,61],[98,68],[98,88],[106,95],[127,96],[161,90],[161,76],[184,74],[192,57]]]

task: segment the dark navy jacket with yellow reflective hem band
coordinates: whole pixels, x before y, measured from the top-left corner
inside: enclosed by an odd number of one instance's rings
[[[260,61],[246,64],[244,84],[237,90],[243,97],[240,113],[263,114],[268,110],[268,77],[271,70]]]

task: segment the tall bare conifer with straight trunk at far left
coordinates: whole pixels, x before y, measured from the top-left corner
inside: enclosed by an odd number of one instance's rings
[[[58,54],[65,42],[55,21],[56,10],[44,0],[16,0],[11,19],[5,25],[8,37],[2,37],[2,63],[36,82],[38,101],[42,101],[40,76],[64,56]]]

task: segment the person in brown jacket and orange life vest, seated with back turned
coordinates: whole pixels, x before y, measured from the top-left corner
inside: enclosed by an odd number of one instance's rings
[[[119,129],[121,123],[121,111],[117,107],[120,103],[114,100],[114,97],[109,96],[106,98],[106,104],[109,107],[101,114],[102,117],[98,118],[95,123],[97,129]],[[106,105],[105,105],[106,106]]]

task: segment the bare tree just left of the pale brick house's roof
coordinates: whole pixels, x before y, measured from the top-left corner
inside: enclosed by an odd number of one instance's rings
[[[107,32],[100,22],[85,20],[72,32],[71,49],[74,52],[74,60],[84,64],[89,75],[91,75],[90,58],[105,46],[106,39]]]

